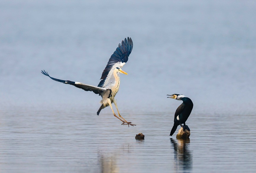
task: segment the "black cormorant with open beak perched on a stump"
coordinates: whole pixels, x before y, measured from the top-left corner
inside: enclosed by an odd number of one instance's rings
[[[185,130],[187,129],[190,131],[189,127],[185,124],[187,121],[187,118],[189,117],[192,109],[193,109],[193,102],[190,98],[185,97],[182,94],[172,94],[169,95],[170,97],[167,98],[174,98],[176,100],[182,100],[183,103],[176,109],[176,112],[174,114],[174,125],[171,129],[170,136],[174,134],[176,131],[177,127],[180,125],[182,128]],[[184,124],[184,125],[182,125]]]

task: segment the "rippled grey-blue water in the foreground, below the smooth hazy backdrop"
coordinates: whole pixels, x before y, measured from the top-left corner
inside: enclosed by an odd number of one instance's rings
[[[82,112],[82,111],[81,111]],[[243,115],[192,114],[188,140],[169,137],[168,113],[114,116],[1,112],[2,172],[253,172],[255,131]],[[5,115],[5,116],[3,116]],[[255,115],[247,115],[256,123]],[[231,123],[232,121],[232,123]],[[178,128],[179,129],[179,128]],[[136,140],[142,132],[145,140]],[[243,165],[243,166],[241,166]]]

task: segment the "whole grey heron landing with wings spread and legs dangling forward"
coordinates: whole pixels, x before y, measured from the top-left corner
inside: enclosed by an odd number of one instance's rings
[[[129,37],[127,39],[125,38],[124,40],[122,40],[121,44],[119,43],[118,47],[116,48],[116,51],[109,58],[106,68],[103,70],[101,81],[98,86],[87,85],[80,82],[72,82],[70,80],[60,80],[52,78],[48,75],[48,73],[45,70],[42,70],[41,73],[50,77],[52,80],[65,84],[74,85],[75,87],[81,88],[85,91],[93,91],[93,93],[99,94],[102,97],[102,100],[101,107],[99,108],[97,115],[99,115],[101,109],[110,106],[114,116],[123,122],[122,125],[128,124],[128,126],[136,126],[135,124],[132,124],[132,122],[126,121],[120,115],[115,99],[116,93],[118,92],[120,86],[119,74],[124,73],[127,75],[127,73],[124,72],[121,68],[128,61],[128,57],[132,52],[132,47],[132,39]],[[114,103],[114,105],[116,106],[116,110],[119,116],[116,116],[112,108],[112,103]]]

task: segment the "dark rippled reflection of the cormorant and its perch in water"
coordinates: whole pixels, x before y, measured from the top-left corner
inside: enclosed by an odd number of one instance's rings
[[[189,139],[172,139],[171,144],[174,148],[174,160],[177,170],[191,170],[192,169],[192,154],[189,150]]]

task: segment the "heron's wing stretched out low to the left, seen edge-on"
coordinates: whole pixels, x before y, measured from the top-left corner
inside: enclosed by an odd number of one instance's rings
[[[111,89],[108,89],[108,88],[101,88],[101,87],[96,87],[96,86],[93,86],[93,85],[86,85],[86,84],[80,83],[80,82],[73,82],[73,81],[70,81],[70,80],[61,80],[61,79],[52,78],[45,70],[42,70],[41,73],[50,77],[52,80],[55,80],[55,81],[58,81],[58,82],[61,82],[61,83],[65,83],[65,84],[74,85],[75,87],[81,88],[85,91],[93,91],[93,93],[101,95],[101,97],[103,99],[104,98],[109,98],[110,94],[111,94]]]

